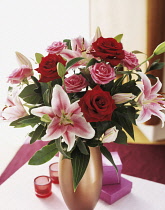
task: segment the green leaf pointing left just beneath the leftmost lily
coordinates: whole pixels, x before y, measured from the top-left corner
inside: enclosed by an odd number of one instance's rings
[[[15,128],[22,128],[25,126],[34,126],[37,123],[40,123],[40,118],[34,115],[28,115],[22,118],[19,118],[18,120],[13,121],[10,126],[14,126]]]

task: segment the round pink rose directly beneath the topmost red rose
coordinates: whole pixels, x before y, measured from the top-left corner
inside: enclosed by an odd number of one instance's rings
[[[97,84],[107,84],[115,79],[115,71],[109,64],[95,63],[89,68],[92,79]]]

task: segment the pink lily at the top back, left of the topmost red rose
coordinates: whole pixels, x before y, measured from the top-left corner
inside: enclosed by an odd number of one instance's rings
[[[87,41],[79,36],[75,39],[71,40],[72,50],[69,49],[63,49],[60,53],[64,58],[67,59],[67,61],[72,60],[76,57],[83,57],[84,59],[77,62],[72,66],[72,68],[76,68],[78,66],[84,66],[86,65],[93,56],[89,54],[90,52],[90,44],[87,43]]]

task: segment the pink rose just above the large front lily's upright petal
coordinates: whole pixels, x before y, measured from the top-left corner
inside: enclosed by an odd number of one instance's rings
[[[86,79],[80,74],[73,74],[65,79],[65,87],[67,93],[80,92],[88,85]]]

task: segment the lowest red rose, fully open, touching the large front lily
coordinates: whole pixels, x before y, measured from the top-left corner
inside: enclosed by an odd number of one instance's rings
[[[103,91],[99,85],[95,86],[78,102],[87,122],[111,120],[116,105],[111,95]]]

